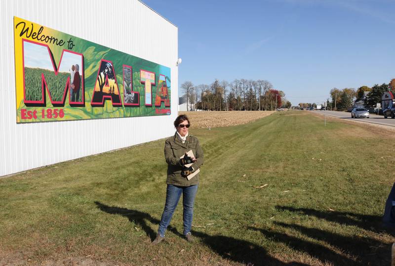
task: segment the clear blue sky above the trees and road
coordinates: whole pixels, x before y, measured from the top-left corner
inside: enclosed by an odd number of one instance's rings
[[[179,84],[264,79],[293,105],[395,78],[395,0],[143,0],[178,27]]]

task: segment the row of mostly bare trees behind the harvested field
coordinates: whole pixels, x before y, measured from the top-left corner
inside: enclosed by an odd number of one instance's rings
[[[187,106],[196,109],[222,110],[275,110],[278,107],[291,107],[285,93],[273,89],[266,80],[235,79],[233,82],[215,80],[212,84],[194,86],[190,81],[181,85],[186,95]]]

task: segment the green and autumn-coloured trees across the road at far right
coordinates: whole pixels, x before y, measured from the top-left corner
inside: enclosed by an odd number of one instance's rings
[[[395,79],[388,84],[375,84],[373,87],[364,85],[358,89],[333,88],[329,92],[330,98],[326,100],[326,106],[330,110],[345,111],[352,107],[355,101],[363,100],[367,108],[375,108],[377,103],[381,103],[381,98],[387,91],[395,92]],[[316,107],[316,103],[299,103],[299,107]]]

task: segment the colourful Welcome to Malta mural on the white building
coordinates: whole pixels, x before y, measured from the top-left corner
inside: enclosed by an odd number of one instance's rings
[[[14,38],[17,123],[170,114],[168,67],[17,17]]]

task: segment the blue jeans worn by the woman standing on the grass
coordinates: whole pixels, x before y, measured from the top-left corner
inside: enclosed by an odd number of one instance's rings
[[[173,216],[174,210],[177,207],[178,200],[182,197],[182,205],[183,205],[183,221],[184,221],[184,235],[191,231],[192,219],[194,216],[194,202],[195,196],[197,192],[197,185],[191,186],[176,186],[176,185],[167,185],[166,191],[166,203],[164,205],[164,210],[162,214],[162,218],[159,222],[158,235],[164,237],[164,231],[166,231],[167,226],[171,221],[171,217]]]

